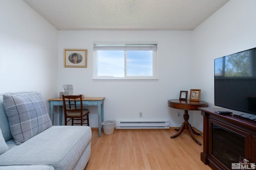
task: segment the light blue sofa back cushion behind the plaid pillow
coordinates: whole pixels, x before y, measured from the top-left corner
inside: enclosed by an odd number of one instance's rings
[[[37,94],[37,92],[33,92],[33,91],[30,91],[30,92],[10,92],[10,93],[4,93],[4,94],[20,96],[20,95],[25,95],[25,94]],[[4,109],[4,102],[3,102],[3,95],[4,94],[0,94],[0,128],[1,128],[2,134],[4,136],[4,140],[9,141],[9,140],[13,139],[13,137],[12,137],[10,127],[9,127],[8,117],[7,117],[5,109]]]

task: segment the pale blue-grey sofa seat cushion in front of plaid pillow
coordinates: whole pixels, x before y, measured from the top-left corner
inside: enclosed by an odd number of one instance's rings
[[[90,157],[91,138],[88,126],[52,126],[1,154],[0,165],[47,164],[71,170],[85,150]]]

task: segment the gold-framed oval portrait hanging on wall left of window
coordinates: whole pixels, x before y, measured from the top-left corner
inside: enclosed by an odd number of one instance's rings
[[[87,49],[64,49],[64,67],[87,67]]]

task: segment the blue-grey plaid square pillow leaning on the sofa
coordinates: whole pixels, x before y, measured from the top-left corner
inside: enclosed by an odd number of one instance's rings
[[[52,126],[41,93],[24,96],[4,94],[3,101],[16,145]]]

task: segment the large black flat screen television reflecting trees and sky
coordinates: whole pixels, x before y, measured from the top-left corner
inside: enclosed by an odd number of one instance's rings
[[[214,104],[256,115],[256,48],[214,60]]]

